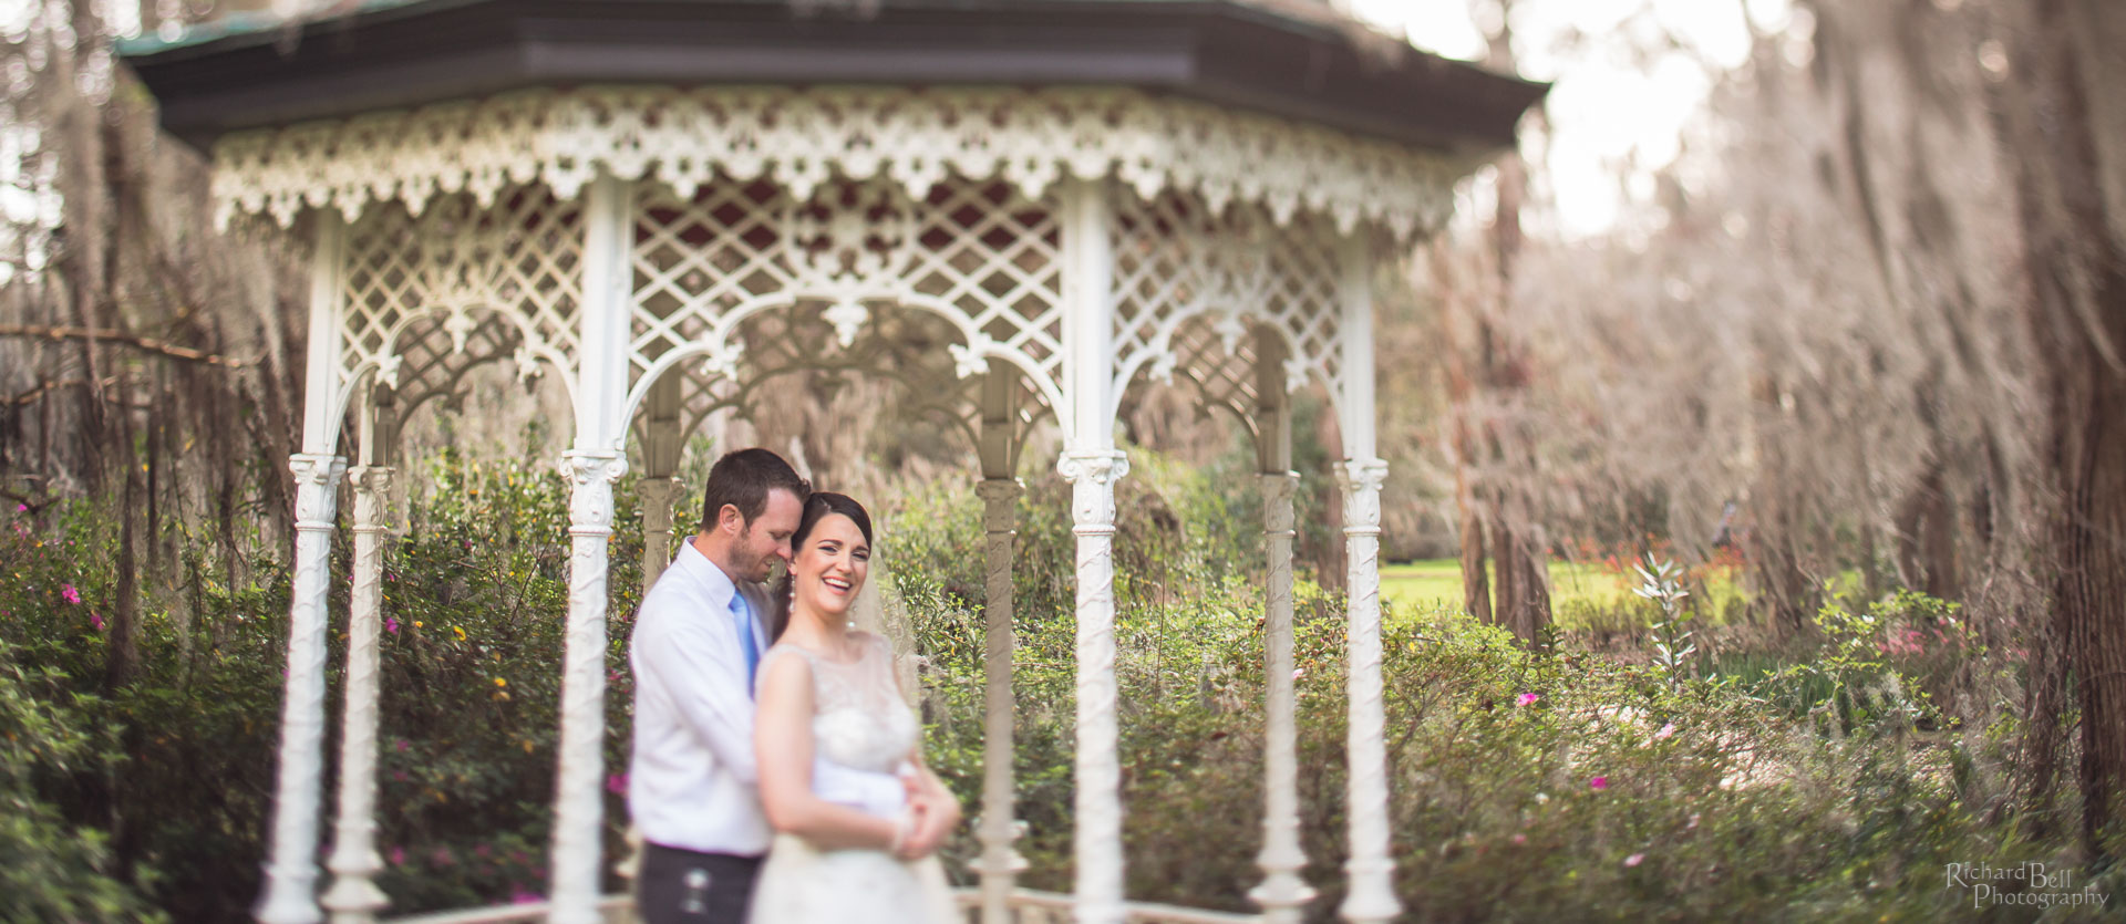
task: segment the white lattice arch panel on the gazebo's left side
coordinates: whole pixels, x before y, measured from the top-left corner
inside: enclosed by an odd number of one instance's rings
[[[421,217],[370,208],[347,229],[342,259],[342,384],[374,372],[402,393],[432,393],[497,355],[517,357],[525,374],[544,359],[574,382],[583,291],[574,202],[512,187],[489,206],[449,195]]]

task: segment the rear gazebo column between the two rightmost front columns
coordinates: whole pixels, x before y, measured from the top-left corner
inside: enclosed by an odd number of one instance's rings
[[[1263,548],[1269,580],[1263,612],[1263,669],[1267,671],[1263,735],[1263,882],[1248,894],[1263,907],[1265,924],[1297,924],[1314,890],[1299,875],[1307,854],[1299,845],[1299,724],[1293,675],[1293,472],[1290,393],[1284,376],[1284,340],[1267,329],[1254,338],[1254,423],[1263,482]]]

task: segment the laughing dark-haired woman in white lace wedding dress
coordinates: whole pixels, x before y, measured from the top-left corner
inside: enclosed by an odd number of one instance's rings
[[[884,637],[857,631],[850,608],[872,563],[872,516],[846,495],[814,493],[791,535],[776,593],[776,637],[759,669],[753,746],[761,807],[776,828],[753,892],[755,924],[944,924],[957,920],[944,867],[918,826],[950,831],[959,803],[923,767],[923,726],[901,697]],[[916,814],[880,818],[812,788],[814,765],[901,773],[944,826]]]

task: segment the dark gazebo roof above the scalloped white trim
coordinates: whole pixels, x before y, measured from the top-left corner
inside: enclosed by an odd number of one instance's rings
[[[349,4],[342,4],[347,8]],[[1548,85],[1405,49],[1265,0],[364,0],[302,25],[238,15],[125,59],[162,123],[230,132],[527,87],[1133,87],[1448,155],[1514,142]]]

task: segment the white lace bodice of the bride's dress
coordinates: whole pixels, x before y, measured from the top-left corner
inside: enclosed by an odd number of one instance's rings
[[[802,656],[812,665],[814,760],[893,773],[914,756],[923,729],[893,680],[893,648],[874,633],[857,639],[863,656],[846,665],[791,641],[770,648],[767,656]]]

